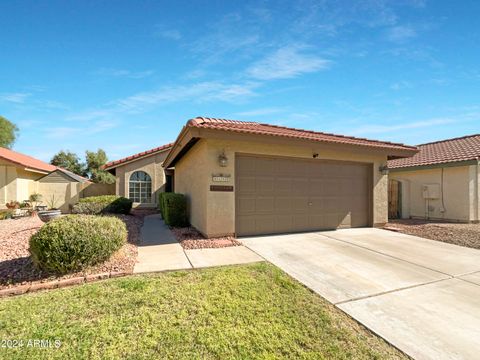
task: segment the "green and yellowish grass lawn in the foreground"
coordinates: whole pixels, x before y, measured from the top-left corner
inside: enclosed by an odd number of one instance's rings
[[[0,301],[2,359],[385,359],[396,349],[267,263],[111,279]]]

